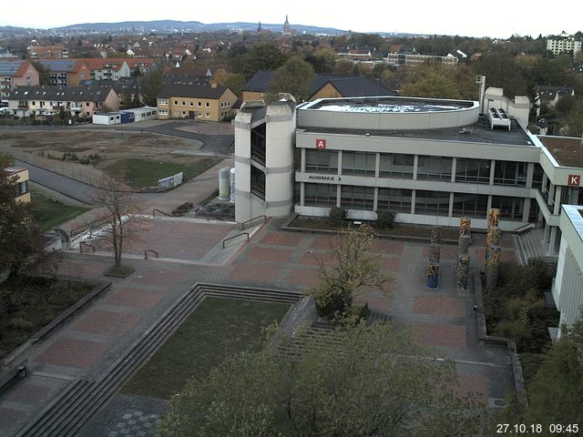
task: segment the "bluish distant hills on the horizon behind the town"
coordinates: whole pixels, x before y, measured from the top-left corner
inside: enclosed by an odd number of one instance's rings
[[[213,23],[206,25],[199,21],[176,21],[176,20],[159,20],[159,21],[123,21],[120,23],[82,23],[78,25],[66,25],[52,29],[30,29],[24,27],[15,27],[12,25],[0,26],[0,35],[14,33],[30,33],[31,31],[40,31],[41,33],[150,33],[174,34],[182,32],[216,32],[216,31],[255,31],[259,23]],[[323,34],[323,35],[341,35],[348,31],[335,29],[332,27],[319,27],[315,25],[292,25],[293,30],[298,34]],[[271,32],[281,32],[283,24],[261,23],[261,28]],[[381,35],[391,35],[381,33]],[[406,35],[406,34],[399,34]]]

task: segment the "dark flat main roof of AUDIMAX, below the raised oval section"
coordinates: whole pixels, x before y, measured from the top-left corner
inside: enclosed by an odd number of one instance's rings
[[[365,133],[369,133],[375,137],[404,137],[442,141],[463,141],[481,143],[485,146],[488,144],[507,144],[512,146],[537,147],[521,127],[516,127],[512,130],[508,130],[507,128],[491,129],[488,126],[486,119],[483,119],[482,117],[480,117],[477,123],[462,128],[445,127],[441,129],[423,130],[369,130],[299,127],[298,130],[304,132],[322,132],[345,135],[364,135]]]

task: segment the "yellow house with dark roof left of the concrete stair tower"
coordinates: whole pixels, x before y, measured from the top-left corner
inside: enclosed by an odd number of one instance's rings
[[[158,96],[160,119],[189,118],[220,121],[230,117],[237,96],[226,86],[169,84]]]

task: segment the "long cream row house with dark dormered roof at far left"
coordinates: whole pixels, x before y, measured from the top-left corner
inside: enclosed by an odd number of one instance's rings
[[[104,109],[119,110],[119,97],[111,86],[18,86],[8,97],[16,117],[54,115],[91,117]]]

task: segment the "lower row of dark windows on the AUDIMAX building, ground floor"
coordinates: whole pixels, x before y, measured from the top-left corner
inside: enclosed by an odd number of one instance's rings
[[[337,186],[326,184],[304,184],[304,205],[332,207],[336,205],[340,187],[340,206],[349,209],[374,208],[374,188]],[[377,210],[411,213],[412,189],[378,188]],[[452,217],[486,218],[488,197],[481,194],[454,193]],[[522,220],[524,198],[492,196],[492,208],[499,208],[504,219]],[[443,191],[415,190],[414,214],[448,216],[450,193]]]

